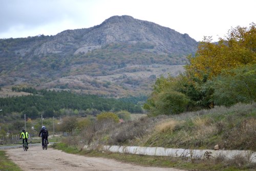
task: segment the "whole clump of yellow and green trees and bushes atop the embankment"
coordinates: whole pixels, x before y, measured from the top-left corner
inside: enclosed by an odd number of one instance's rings
[[[144,109],[153,115],[255,101],[256,27],[231,28],[225,38],[204,37],[185,73],[158,78]]]

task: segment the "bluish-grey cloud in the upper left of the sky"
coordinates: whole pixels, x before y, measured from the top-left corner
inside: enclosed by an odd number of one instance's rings
[[[82,3],[82,1],[1,0],[0,32],[7,32],[9,29],[18,26],[33,28],[69,17],[79,18],[81,10],[72,7],[76,3]]]

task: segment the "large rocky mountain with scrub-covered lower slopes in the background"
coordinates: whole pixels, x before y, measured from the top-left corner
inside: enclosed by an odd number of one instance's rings
[[[150,93],[160,75],[183,71],[197,41],[132,16],[55,36],[0,39],[0,87],[125,96]]]

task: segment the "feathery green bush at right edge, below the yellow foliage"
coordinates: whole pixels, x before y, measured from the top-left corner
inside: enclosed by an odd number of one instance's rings
[[[256,101],[256,65],[225,70],[214,81],[214,101],[218,105]]]

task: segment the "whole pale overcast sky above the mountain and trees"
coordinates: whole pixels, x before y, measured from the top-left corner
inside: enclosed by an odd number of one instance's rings
[[[200,41],[256,22],[256,0],[0,0],[0,38],[56,35],[130,15]]]

